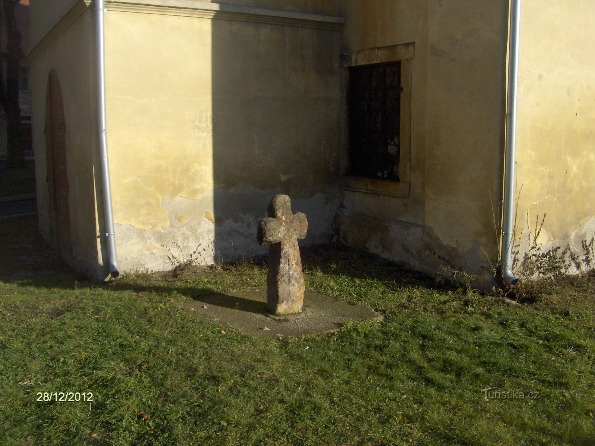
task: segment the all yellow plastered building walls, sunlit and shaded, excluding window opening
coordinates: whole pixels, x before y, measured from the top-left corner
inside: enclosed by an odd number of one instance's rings
[[[48,237],[42,123],[53,68],[67,121],[74,264],[103,279],[90,4],[60,0],[62,10],[52,10],[54,2],[31,2],[39,42],[30,54],[33,143]],[[595,5],[574,4],[523,3],[517,268],[526,255],[547,263],[555,252],[574,265],[568,271],[580,271],[593,255]],[[256,222],[271,197],[285,193],[308,215],[306,244],[327,241],[335,219],[347,244],[490,284],[499,250],[508,0],[107,0],[106,8],[122,271],[265,252]],[[348,67],[381,54],[405,61],[399,182],[352,177],[347,163]]]

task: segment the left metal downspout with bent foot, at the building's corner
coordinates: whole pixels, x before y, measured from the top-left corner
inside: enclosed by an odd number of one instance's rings
[[[101,186],[104,196],[105,237],[108,242],[109,274],[118,277],[118,257],[115,249],[114,212],[109,181],[108,141],[105,119],[105,34],[104,0],[95,0],[95,36],[97,54],[97,120],[99,130],[99,155],[101,158]]]

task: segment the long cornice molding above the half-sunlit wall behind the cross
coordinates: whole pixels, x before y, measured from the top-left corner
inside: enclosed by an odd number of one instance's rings
[[[332,31],[340,31],[343,23],[345,23],[343,17],[337,17],[336,15],[309,14],[308,12],[211,3],[201,0],[107,0],[105,8],[108,11],[181,15],[184,17],[267,23]]]

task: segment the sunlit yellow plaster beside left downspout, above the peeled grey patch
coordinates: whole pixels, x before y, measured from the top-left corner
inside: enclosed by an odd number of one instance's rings
[[[105,36],[114,219],[167,230],[162,198],[213,187],[211,21],[108,11]]]

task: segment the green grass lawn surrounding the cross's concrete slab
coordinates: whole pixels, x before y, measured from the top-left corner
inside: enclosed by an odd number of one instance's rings
[[[595,275],[509,306],[365,253],[303,250],[306,287],[384,321],[279,340],[180,308],[265,284],[262,265],[92,284],[53,260],[35,219],[0,233],[0,444],[595,444]],[[61,391],[93,401],[37,401]]]

